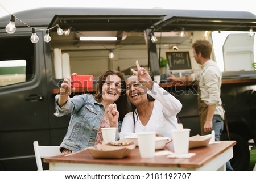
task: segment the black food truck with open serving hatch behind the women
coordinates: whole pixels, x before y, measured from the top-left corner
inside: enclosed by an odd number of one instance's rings
[[[10,22],[15,27],[7,27]],[[247,170],[249,145],[256,141],[255,29],[256,16],[245,11],[43,8],[3,16],[0,170],[36,170],[33,141],[60,145],[70,116],[54,115],[54,98],[66,75],[93,75],[92,88],[79,88],[71,96],[93,94],[105,70],[128,77],[135,60],[152,78],[160,76],[160,86],[183,104],[178,117],[184,128],[191,129],[191,136],[200,134],[197,84],[166,79],[200,70],[191,48],[197,39],[214,45],[229,136],[237,141],[230,162],[234,170]],[[168,60],[164,69],[159,67],[162,57]],[[229,139],[226,130],[222,139]]]

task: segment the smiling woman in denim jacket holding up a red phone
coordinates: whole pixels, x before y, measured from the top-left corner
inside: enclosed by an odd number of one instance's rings
[[[108,70],[98,80],[96,93],[69,95],[71,77],[64,79],[60,94],[55,96],[57,117],[71,115],[68,131],[60,145],[63,154],[102,143],[101,128],[116,127],[119,139],[121,122],[127,111],[126,82],[119,71]]]

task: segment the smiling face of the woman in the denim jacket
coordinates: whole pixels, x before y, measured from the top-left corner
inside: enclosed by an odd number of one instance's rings
[[[121,91],[121,78],[118,75],[108,75],[102,85],[102,100],[114,103],[119,98]]]

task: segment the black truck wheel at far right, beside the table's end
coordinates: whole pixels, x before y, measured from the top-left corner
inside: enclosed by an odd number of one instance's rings
[[[250,150],[248,142],[241,136],[235,133],[229,133],[230,140],[237,141],[233,146],[233,158],[230,159],[231,166],[234,171],[246,171],[248,170],[250,163]],[[223,133],[221,140],[229,140],[228,134]]]

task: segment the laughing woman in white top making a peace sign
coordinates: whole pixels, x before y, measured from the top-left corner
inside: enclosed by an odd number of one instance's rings
[[[136,65],[137,71],[131,69],[135,75],[126,81],[126,95],[133,111],[123,119],[120,138],[146,131],[155,131],[157,136],[171,138],[171,130],[179,128],[176,115],[182,104],[152,81],[138,61]]]

